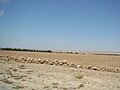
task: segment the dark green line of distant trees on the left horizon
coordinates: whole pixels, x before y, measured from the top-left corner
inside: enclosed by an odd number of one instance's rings
[[[52,50],[35,50],[35,49],[21,49],[21,48],[0,48],[7,51],[28,51],[28,52],[48,52],[52,53]]]

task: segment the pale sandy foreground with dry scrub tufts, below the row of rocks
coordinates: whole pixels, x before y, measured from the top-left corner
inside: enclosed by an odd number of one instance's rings
[[[0,61],[0,90],[120,90],[120,74]]]

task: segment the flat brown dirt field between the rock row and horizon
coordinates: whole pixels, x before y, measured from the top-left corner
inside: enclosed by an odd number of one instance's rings
[[[16,52],[0,51],[0,55],[23,56],[50,60],[67,60],[79,65],[120,68],[120,56],[92,55],[92,54],[65,54],[65,53],[41,53],[41,52]]]

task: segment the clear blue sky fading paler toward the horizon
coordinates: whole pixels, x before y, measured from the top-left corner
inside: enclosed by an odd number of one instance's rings
[[[120,0],[0,0],[0,47],[120,52]]]

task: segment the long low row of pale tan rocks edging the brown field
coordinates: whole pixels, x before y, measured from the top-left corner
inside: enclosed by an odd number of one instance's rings
[[[15,57],[15,56],[5,56],[0,55],[0,60],[3,61],[12,61],[12,62],[21,62],[21,63],[36,63],[36,64],[48,64],[48,65],[56,65],[56,66],[68,66],[68,67],[74,67],[74,68],[84,68],[89,70],[95,70],[95,71],[107,71],[107,72],[115,72],[120,73],[120,68],[98,68],[94,66],[82,66],[82,65],[76,65],[75,63],[69,63],[66,60],[50,60],[50,59],[37,59],[37,58],[30,58],[30,57]]]

